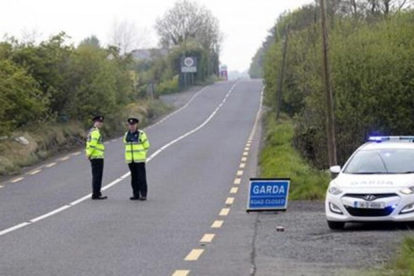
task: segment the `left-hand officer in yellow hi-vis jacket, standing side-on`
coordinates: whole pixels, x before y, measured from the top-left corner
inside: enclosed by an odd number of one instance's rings
[[[101,193],[105,146],[99,130],[104,124],[104,116],[96,116],[92,121],[93,127],[86,141],[86,157],[92,166],[92,199],[106,199],[107,196]]]

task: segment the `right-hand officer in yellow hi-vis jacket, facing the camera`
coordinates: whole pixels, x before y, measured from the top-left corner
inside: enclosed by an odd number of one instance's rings
[[[123,142],[125,144],[125,161],[131,171],[131,186],[133,196],[130,200],[147,200],[147,175],[145,161],[150,142],[147,135],[138,129],[137,118],[128,119],[129,130],[125,133]]]

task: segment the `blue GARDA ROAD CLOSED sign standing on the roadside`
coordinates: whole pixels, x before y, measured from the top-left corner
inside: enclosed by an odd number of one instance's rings
[[[250,179],[247,211],[286,210],[289,196],[289,178]]]

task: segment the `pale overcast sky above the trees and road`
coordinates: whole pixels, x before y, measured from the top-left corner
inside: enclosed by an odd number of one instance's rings
[[[157,17],[175,0],[6,0],[0,9],[0,35],[41,39],[65,31],[74,43],[97,35],[109,41],[115,21],[128,20],[145,36],[145,47],[157,46]],[[276,18],[310,0],[198,0],[219,18],[224,33],[221,61],[229,70],[246,70]]]

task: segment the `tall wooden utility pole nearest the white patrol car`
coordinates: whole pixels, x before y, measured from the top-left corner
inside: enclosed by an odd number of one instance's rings
[[[326,21],[325,0],[320,0],[321,25],[322,25],[322,53],[323,53],[323,78],[327,97],[327,135],[328,135],[328,155],[329,166],[338,164],[336,157],[336,138],[335,138],[335,118],[333,113],[333,95],[332,84],[329,72],[329,46],[328,46],[328,29]]]

